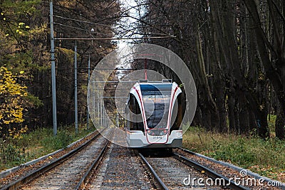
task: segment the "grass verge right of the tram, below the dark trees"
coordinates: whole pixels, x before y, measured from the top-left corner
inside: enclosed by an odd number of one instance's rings
[[[183,135],[183,146],[262,176],[285,181],[285,141],[219,134],[190,127]]]

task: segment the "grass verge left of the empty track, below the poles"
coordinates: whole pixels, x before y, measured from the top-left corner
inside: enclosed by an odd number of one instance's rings
[[[85,126],[80,126],[76,134],[74,127],[62,126],[58,127],[58,134],[53,136],[52,128],[38,128],[22,134],[21,139],[0,139],[0,171],[65,148],[93,130],[94,127],[87,130]]]

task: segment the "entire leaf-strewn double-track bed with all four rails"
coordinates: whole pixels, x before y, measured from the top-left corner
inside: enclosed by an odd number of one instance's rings
[[[103,136],[110,137],[112,133],[108,131]],[[252,189],[234,184],[229,176],[209,169],[207,163],[195,162],[192,152],[185,149],[164,157],[135,153],[97,134],[50,166],[2,189]],[[204,179],[204,183],[198,179]],[[222,179],[226,185],[209,185],[206,179]]]

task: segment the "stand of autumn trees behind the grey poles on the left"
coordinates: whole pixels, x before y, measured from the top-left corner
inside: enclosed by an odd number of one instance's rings
[[[57,38],[112,37],[113,23],[118,20],[117,1],[53,1],[55,36]],[[29,111],[23,125],[52,125],[51,62],[49,34],[49,1],[0,1],[0,66],[6,65],[17,80],[27,87]],[[56,41],[56,87],[58,123],[74,121],[74,41]],[[87,55],[91,69],[98,60],[113,50],[111,41],[78,41],[78,113],[86,116]]]

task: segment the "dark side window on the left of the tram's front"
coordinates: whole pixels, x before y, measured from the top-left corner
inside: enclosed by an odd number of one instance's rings
[[[140,110],[138,100],[135,99],[134,95],[130,95],[129,108],[130,111],[133,112],[130,117],[130,130],[141,130],[142,132],[144,132],[142,112]]]

